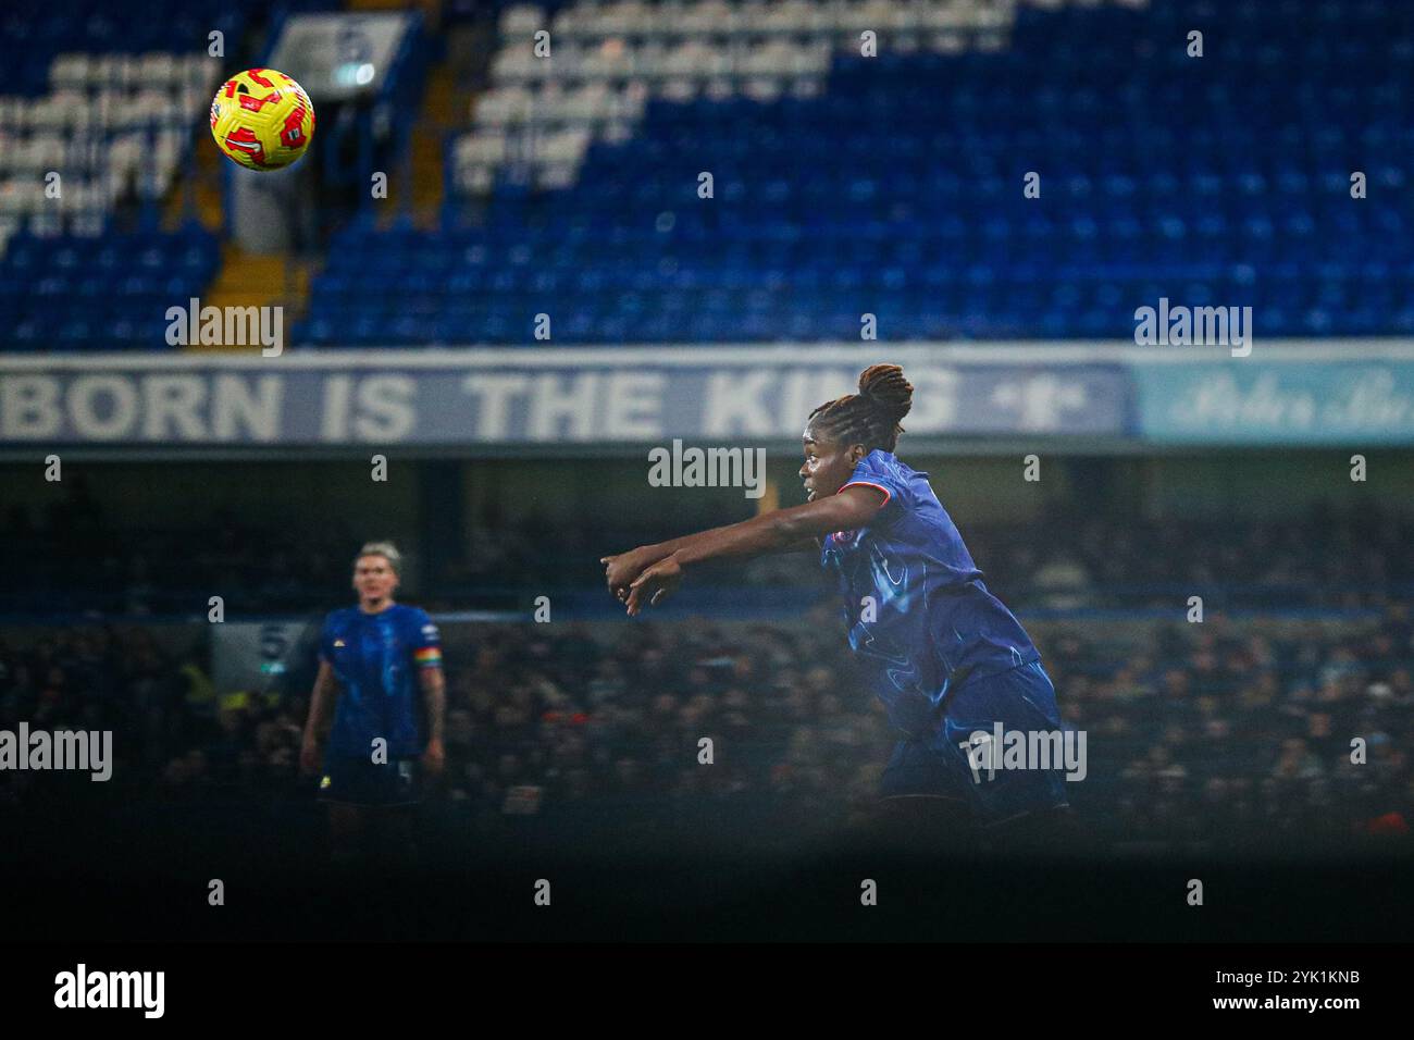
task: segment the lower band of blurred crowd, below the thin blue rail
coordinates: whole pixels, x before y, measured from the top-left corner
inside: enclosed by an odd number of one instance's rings
[[[181,631],[187,649],[141,625],[0,642],[0,729],[115,730],[103,787],[117,798],[312,798],[298,775],[307,674],[284,691],[216,689],[205,632]],[[1087,734],[1072,802],[1118,838],[1295,839],[1414,819],[1403,603],[1365,623],[1035,635],[1066,723]],[[867,809],[895,739],[829,607],[752,625],[452,623],[444,645],[448,764],[433,797],[475,816],[745,797],[843,824]],[[0,804],[68,797],[55,782],[0,771]]]

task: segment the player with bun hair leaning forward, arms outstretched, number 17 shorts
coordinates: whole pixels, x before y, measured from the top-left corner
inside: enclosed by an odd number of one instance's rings
[[[1055,688],[1010,610],[983,583],[928,474],[894,454],[913,388],[874,365],[860,392],[820,405],[802,439],[806,502],[605,556],[609,590],[638,614],[706,560],[806,549],[844,596],[850,648],[901,732],[881,815],[1041,832],[1069,816],[1056,768],[993,768],[977,732],[1059,733]],[[978,768],[980,767],[980,768]],[[1038,824],[1041,826],[1038,826]]]

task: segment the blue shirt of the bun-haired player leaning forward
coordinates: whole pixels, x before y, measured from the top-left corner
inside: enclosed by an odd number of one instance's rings
[[[995,675],[1039,661],[1031,637],[987,591],[926,473],[875,449],[844,487],[885,495],[868,526],[824,539],[820,563],[839,576],[850,648],[889,720],[923,736],[950,678]],[[841,491],[844,488],[840,488]]]

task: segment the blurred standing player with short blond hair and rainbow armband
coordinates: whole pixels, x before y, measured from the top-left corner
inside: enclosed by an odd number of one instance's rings
[[[383,848],[410,857],[407,807],[421,799],[421,780],[440,774],[445,761],[441,642],[426,611],[393,601],[400,565],[392,543],[365,545],[354,560],[359,603],[329,614],[320,637],[300,767],[307,774],[318,768],[328,733],[320,798],[329,805],[339,862],[354,857],[370,815],[385,825]]]

